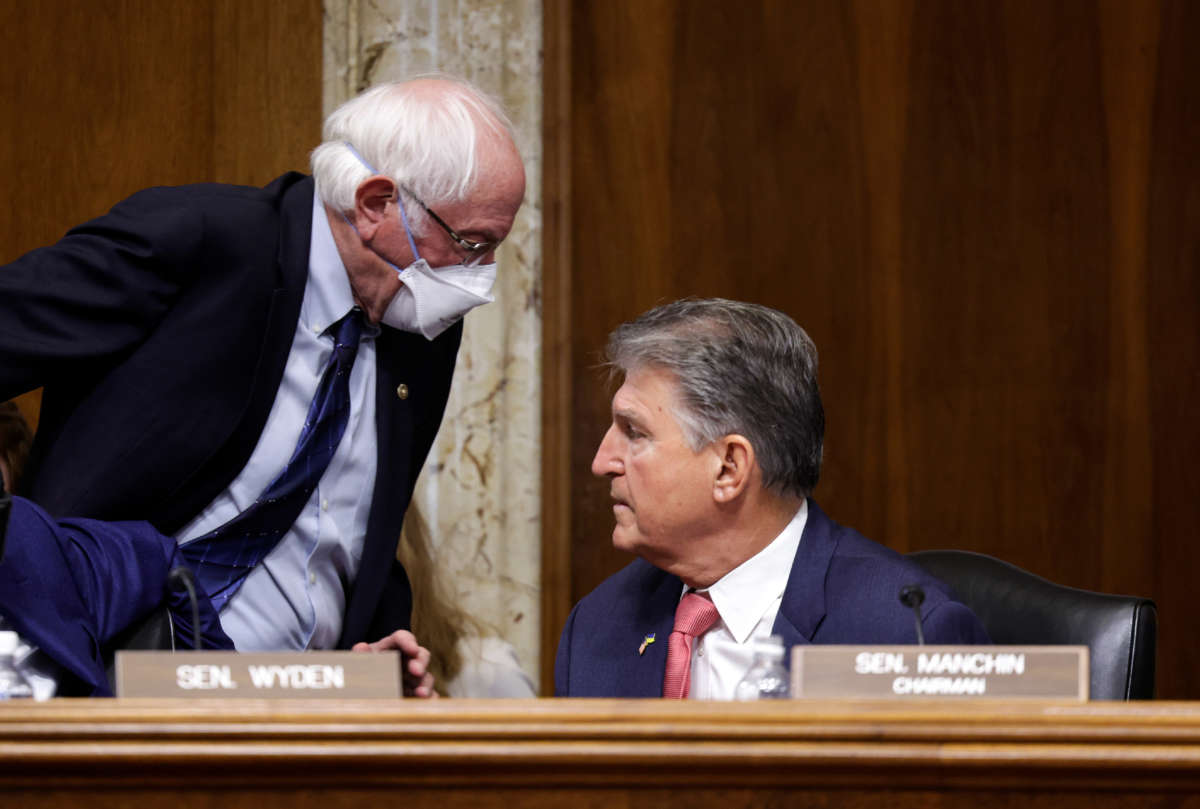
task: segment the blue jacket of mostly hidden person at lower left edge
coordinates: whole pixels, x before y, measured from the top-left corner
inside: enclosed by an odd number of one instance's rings
[[[182,563],[175,540],[149,523],[55,521],[14,497],[0,547],[0,615],[62,666],[59,696],[109,696],[107,647],[164,599],[176,646],[191,648],[187,597],[167,589],[167,573]],[[199,605],[205,648],[233,648],[204,593]]]

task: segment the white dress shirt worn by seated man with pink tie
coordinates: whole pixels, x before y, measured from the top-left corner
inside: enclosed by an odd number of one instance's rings
[[[767,547],[712,587],[698,591],[713,599],[721,619],[692,647],[690,699],[733,699],[734,689],[754,661],[754,641],[768,637],[775,624],[808,519],[805,499]]]

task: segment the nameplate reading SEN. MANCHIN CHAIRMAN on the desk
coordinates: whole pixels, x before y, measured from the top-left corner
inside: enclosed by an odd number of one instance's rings
[[[800,699],[1087,700],[1086,646],[793,646]]]

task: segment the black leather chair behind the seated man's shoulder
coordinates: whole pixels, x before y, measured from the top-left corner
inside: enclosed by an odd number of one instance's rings
[[[1086,645],[1091,699],[1154,696],[1158,610],[1150,599],[1056,585],[971,551],[914,551],[908,558],[949,585],[995,643]]]

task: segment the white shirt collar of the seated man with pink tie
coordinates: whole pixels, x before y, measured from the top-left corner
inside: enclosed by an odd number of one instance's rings
[[[792,521],[784,526],[767,547],[704,591],[738,643],[744,643],[750,637],[767,610],[784,595],[808,517],[809,501],[805,498]]]

